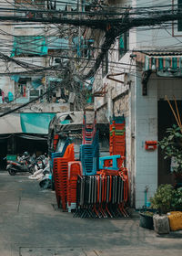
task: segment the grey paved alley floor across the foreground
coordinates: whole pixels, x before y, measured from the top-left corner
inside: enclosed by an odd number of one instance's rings
[[[0,256],[182,255],[182,232],[158,236],[134,219],[77,219],[55,192],[0,172]]]

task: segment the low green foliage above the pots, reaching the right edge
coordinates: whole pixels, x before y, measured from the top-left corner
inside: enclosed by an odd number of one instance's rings
[[[150,198],[151,207],[159,213],[167,213],[182,208],[182,188],[174,189],[171,185],[160,185],[154,197]]]

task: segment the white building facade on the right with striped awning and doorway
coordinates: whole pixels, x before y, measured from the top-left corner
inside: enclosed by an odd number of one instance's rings
[[[162,1],[108,1],[110,7],[146,7],[164,5]],[[180,7],[170,1],[169,8]],[[148,8],[147,8],[148,7]],[[139,11],[139,9],[136,9]],[[134,12],[134,11],[133,11]],[[106,89],[95,98],[98,111],[126,117],[126,167],[130,178],[131,205],[141,208],[152,197],[157,186],[172,183],[170,161],[161,150],[147,150],[147,142],[156,144],[167,127],[176,123],[165,96],[181,106],[180,20],[154,27],[134,27],[116,38],[108,50],[107,64],[97,71],[94,91]],[[105,70],[105,75],[103,74]],[[175,97],[175,98],[174,98]],[[172,102],[173,101],[173,102]]]

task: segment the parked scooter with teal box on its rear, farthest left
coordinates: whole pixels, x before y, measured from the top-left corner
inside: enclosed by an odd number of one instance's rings
[[[15,176],[16,173],[25,173],[29,172],[34,173],[34,159],[31,159],[31,156],[25,152],[22,157],[19,157],[18,161],[7,160],[6,170],[10,176]]]

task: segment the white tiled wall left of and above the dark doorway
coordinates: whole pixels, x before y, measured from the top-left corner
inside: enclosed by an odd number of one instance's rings
[[[149,200],[158,185],[157,150],[147,151],[145,149],[146,141],[158,141],[157,101],[165,100],[165,95],[169,100],[174,100],[173,95],[177,100],[182,99],[181,79],[159,78],[153,74],[148,80],[147,96],[142,96],[139,76],[137,73],[135,94],[136,208],[141,208],[145,204],[146,187]]]

